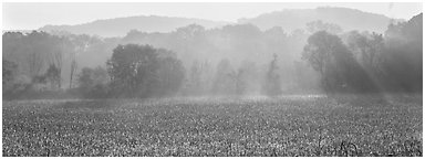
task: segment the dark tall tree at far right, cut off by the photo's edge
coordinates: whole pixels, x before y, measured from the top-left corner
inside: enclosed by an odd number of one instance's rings
[[[395,92],[422,92],[423,14],[388,25],[381,70],[386,87]]]

